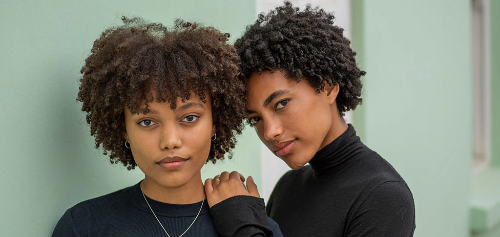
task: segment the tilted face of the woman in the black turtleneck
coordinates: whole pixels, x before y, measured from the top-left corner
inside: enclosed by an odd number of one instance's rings
[[[297,169],[334,139],[337,93],[329,86],[317,93],[305,79],[296,82],[278,70],[253,73],[248,80],[247,118],[267,148]]]

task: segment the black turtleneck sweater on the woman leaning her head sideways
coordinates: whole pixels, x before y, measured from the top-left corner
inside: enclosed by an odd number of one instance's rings
[[[283,236],[413,235],[415,208],[406,182],[360,141],[352,125],[309,164],[285,173],[267,203],[267,215]],[[227,216],[225,201],[214,207]],[[214,223],[217,230],[243,226],[228,226],[219,218]]]

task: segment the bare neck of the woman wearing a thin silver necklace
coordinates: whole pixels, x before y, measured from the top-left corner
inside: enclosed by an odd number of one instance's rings
[[[191,204],[204,199],[205,189],[198,172],[187,183],[178,187],[165,187],[149,177],[140,182],[140,188],[147,197],[170,204]]]

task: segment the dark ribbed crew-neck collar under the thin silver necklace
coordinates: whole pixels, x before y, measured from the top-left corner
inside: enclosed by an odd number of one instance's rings
[[[132,203],[137,206],[137,208],[151,213],[149,206],[147,206],[147,203],[142,196],[139,184],[140,182],[133,186],[127,187],[124,189],[124,191],[130,198],[130,201],[132,201]],[[170,204],[153,200],[147,196],[146,198],[156,215],[163,215],[168,217],[196,216],[196,214],[198,214],[199,207],[201,206],[201,201],[192,204]],[[199,212],[199,214],[202,215],[209,211],[210,207],[208,206],[208,203],[205,199],[203,201],[203,207],[201,207],[201,211]]]

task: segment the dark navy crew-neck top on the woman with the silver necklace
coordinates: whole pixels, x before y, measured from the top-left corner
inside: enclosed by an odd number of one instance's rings
[[[57,222],[52,236],[166,236],[147,206],[139,183],[69,208]],[[206,199],[201,206],[201,201],[180,205],[155,201],[147,196],[146,198],[170,236],[179,236],[184,232],[200,207],[199,216],[183,236],[219,236],[215,231]],[[247,209],[264,208],[262,199],[238,196],[234,201],[244,202]],[[246,232],[254,233],[255,236],[282,236],[277,224],[265,216],[263,210],[246,211],[241,215],[253,223],[246,225]],[[227,220],[226,223],[237,224],[233,221],[236,220]]]

